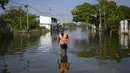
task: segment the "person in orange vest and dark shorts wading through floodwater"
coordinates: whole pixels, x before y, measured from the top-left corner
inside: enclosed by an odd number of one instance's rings
[[[63,50],[66,54],[67,51],[67,44],[69,43],[69,37],[64,31],[62,30],[59,34],[59,40],[58,43],[60,44],[60,54],[63,53]]]

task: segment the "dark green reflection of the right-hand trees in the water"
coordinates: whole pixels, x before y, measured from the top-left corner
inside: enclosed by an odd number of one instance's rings
[[[75,46],[80,47],[77,53],[79,57],[94,57],[98,60],[116,60],[121,62],[123,58],[130,57],[130,49],[122,49],[117,33],[112,35],[104,33],[89,33],[88,40],[75,40]]]

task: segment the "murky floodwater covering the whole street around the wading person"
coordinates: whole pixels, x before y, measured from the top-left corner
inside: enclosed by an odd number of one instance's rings
[[[82,28],[65,31],[70,43],[59,54],[57,32],[15,35],[0,41],[0,73],[130,73],[128,35]]]

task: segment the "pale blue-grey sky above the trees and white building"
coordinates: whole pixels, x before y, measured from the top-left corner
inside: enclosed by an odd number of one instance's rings
[[[12,0],[21,4],[28,4],[35,9],[44,12],[39,13],[31,8],[29,12],[36,15],[47,15],[53,16],[60,20],[71,20],[71,10],[75,6],[82,4],[84,2],[89,2],[92,4],[97,3],[97,0]],[[130,0],[115,0],[118,5],[127,5],[130,6]],[[51,15],[49,14],[51,13]]]

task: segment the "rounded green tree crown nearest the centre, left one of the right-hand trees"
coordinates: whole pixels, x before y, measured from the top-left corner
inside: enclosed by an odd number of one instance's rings
[[[90,3],[85,2],[84,4],[78,5],[71,13],[73,15],[73,21],[89,23],[94,10]]]

